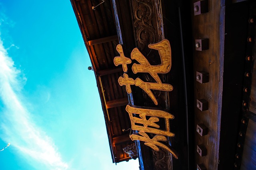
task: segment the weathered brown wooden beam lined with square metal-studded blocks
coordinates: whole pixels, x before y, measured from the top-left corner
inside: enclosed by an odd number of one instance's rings
[[[209,39],[209,49],[196,51],[194,45],[194,135],[195,145],[204,145],[207,149],[206,156],[200,156],[194,150],[195,163],[203,163],[206,169],[218,168],[218,148],[220,140],[220,116],[222,106],[222,76],[223,53],[220,45],[224,41],[221,34],[224,23],[224,11],[220,7],[220,1],[208,0],[208,13],[194,16],[193,0],[191,3],[193,42],[195,39]],[[223,45],[223,44],[222,44]],[[209,82],[201,84],[196,81],[196,71],[209,72]],[[196,107],[197,99],[205,99],[209,102],[208,110],[200,111]],[[196,132],[196,125],[203,123],[208,127],[208,135],[201,137]],[[196,165],[194,166],[196,168]]]

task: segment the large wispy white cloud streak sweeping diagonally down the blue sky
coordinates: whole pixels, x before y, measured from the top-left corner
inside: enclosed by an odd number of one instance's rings
[[[21,77],[20,70],[14,66],[0,39],[0,102],[4,106],[0,114],[4,117],[0,137],[10,142],[22,156],[43,163],[52,170],[65,170],[68,164],[62,160],[52,139],[33,123],[31,114],[22,103],[21,88],[25,78]]]

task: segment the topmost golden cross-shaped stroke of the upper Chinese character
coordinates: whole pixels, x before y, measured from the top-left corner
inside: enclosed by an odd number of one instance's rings
[[[118,44],[116,46],[116,51],[118,51],[120,56],[114,58],[115,66],[122,64],[124,72],[127,72],[127,70],[128,70],[127,64],[132,63],[131,59],[124,56],[124,51],[123,51],[122,45]]]

